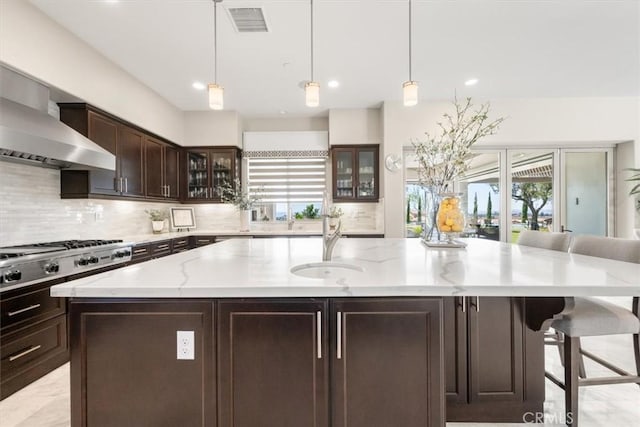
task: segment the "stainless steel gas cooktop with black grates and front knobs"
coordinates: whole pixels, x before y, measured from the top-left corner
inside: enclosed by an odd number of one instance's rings
[[[0,290],[131,260],[122,240],[62,240],[0,248]]]

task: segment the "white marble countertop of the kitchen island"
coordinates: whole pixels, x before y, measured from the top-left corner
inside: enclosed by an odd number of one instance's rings
[[[322,240],[234,239],[56,285],[51,295],[112,298],[640,295],[640,264],[484,239],[432,249],[418,239],[341,239],[333,278],[291,267],[321,260]]]

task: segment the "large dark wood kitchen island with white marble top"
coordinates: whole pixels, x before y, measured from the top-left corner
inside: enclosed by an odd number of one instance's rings
[[[522,421],[544,401],[523,297],[640,295],[640,266],[467,243],[344,239],[333,261],[362,271],[318,279],[290,269],[319,261],[320,239],[232,240],[57,285],[72,425]],[[193,332],[178,354],[177,331]]]

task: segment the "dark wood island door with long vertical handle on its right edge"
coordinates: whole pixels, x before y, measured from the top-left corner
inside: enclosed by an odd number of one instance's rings
[[[218,427],[327,427],[326,300],[218,303]]]

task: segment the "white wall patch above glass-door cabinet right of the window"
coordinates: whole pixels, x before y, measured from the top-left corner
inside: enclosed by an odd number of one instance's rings
[[[329,110],[329,144],[382,144],[379,108]]]

